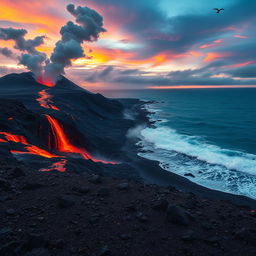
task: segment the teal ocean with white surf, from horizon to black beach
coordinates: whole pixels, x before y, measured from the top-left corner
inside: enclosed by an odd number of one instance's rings
[[[103,91],[156,101],[140,156],[202,186],[256,199],[256,89]],[[188,176],[187,176],[188,175]]]

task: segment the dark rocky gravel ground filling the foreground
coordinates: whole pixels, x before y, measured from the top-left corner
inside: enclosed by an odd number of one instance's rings
[[[1,256],[255,256],[255,212],[246,207],[9,165],[0,165]]]

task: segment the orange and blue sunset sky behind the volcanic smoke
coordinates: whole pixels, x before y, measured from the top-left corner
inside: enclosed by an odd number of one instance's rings
[[[96,10],[106,31],[84,42],[85,57],[65,69],[86,88],[256,85],[255,0],[0,2],[0,28],[26,29],[26,39],[46,36],[36,50],[48,57],[61,27],[74,21],[68,4]],[[0,76],[26,71],[13,48],[12,41],[0,40]]]

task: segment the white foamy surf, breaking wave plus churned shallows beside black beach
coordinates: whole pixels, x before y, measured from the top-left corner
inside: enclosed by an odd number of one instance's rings
[[[256,198],[256,155],[222,149],[165,126],[145,128],[140,136],[140,156],[158,160],[163,169],[192,173],[195,178],[189,179],[203,186]]]

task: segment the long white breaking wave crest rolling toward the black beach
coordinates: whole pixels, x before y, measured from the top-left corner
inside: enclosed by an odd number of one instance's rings
[[[210,164],[256,175],[256,155],[206,144],[200,137],[182,135],[169,127],[146,128],[141,135],[156,149],[176,151]]]

